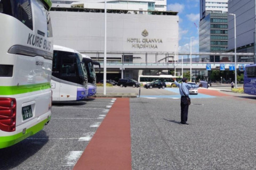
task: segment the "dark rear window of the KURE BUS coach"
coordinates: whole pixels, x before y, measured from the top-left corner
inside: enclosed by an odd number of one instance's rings
[[[33,30],[30,0],[2,0],[0,12],[11,15]]]

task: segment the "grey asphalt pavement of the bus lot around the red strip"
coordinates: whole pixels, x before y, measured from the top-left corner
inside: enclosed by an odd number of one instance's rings
[[[190,124],[180,125],[177,88],[108,87],[107,93],[140,90],[140,97],[129,99],[131,152],[126,154],[132,169],[255,169],[256,96],[223,88],[190,95]],[[52,120],[42,131],[0,150],[0,169],[73,169],[110,111],[123,113],[122,108],[112,110],[115,100],[55,103]]]

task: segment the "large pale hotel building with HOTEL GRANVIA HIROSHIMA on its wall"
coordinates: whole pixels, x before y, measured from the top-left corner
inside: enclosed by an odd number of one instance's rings
[[[132,4],[107,4],[108,63],[178,61],[178,55],[175,55],[179,46],[178,12],[151,11],[148,9],[150,3],[142,3],[144,8],[141,6],[139,9]],[[54,44],[74,48],[94,61],[103,61],[104,4],[73,2],[71,5],[73,7],[61,7],[59,4],[51,9]],[[136,80],[139,74],[150,72],[149,69],[107,69],[107,79],[123,77]]]

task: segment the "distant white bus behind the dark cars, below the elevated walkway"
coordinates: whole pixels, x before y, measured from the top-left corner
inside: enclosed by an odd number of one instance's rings
[[[175,84],[172,78],[176,78],[177,81],[181,81],[180,77],[174,77],[173,75],[139,75],[138,82],[144,86],[152,81],[160,80],[164,81],[166,85],[172,86],[172,84]]]

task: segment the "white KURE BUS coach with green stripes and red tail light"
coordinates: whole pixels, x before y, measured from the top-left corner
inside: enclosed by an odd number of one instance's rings
[[[51,5],[49,0],[0,1],[0,148],[50,121]]]

